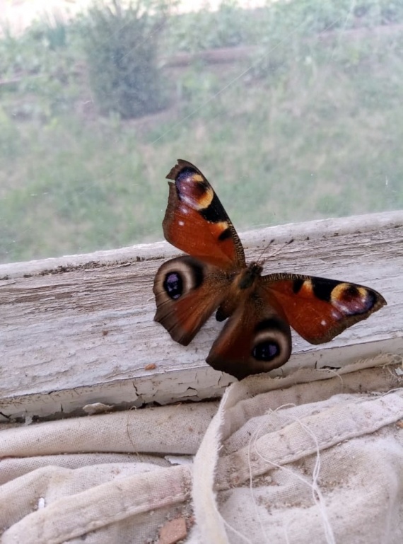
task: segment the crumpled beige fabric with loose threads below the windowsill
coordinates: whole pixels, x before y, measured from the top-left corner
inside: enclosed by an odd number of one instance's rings
[[[152,543],[176,517],[187,544],[400,544],[399,369],[253,376],[221,403],[3,428],[1,544]]]

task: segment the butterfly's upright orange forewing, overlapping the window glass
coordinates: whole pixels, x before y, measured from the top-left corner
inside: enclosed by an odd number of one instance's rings
[[[166,240],[192,257],[233,270],[245,267],[245,255],[233,224],[213,187],[196,166],[178,159],[167,175]]]

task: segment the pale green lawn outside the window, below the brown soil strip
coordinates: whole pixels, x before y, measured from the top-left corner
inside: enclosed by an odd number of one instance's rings
[[[86,110],[85,74],[53,43],[65,83],[0,88],[1,262],[162,238],[176,158],[201,168],[238,230],[402,208],[402,35],[315,36],[165,71],[170,108],[132,121]]]

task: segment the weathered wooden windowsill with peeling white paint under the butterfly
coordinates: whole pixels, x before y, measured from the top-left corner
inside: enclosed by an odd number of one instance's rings
[[[368,284],[388,302],[328,344],[311,346],[294,335],[293,356],[274,375],[403,354],[403,212],[264,228],[241,238],[248,260],[263,251],[267,272]],[[153,322],[154,274],[176,254],[163,242],[0,265],[0,412],[49,416],[95,402],[139,406],[221,395],[232,378],[204,358],[222,324],[212,318],[182,347]]]

